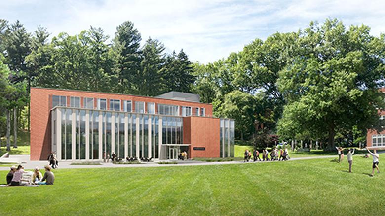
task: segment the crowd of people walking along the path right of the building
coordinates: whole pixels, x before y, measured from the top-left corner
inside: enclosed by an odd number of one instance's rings
[[[270,158],[269,158],[269,155],[270,155]],[[290,159],[289,157],[289,152],[287,150],[287,148],[285,149],[280,149],[278,151],[278,148],[274,147],[270,154],[269,154],[269,151],[267,149],[263,149],[262,150],[262,160],[261,160],[261,157],[260,157],[260,152],[256,149],[253,150],[253,161],[275,161],[275,160],[278,160],[278,161],[283,161],[283,160],[288,160]],[[249,162],[249,160],[251,160],[251,151],[249,151],[248,149],[245,150],[245,153],[244,153],[244,162]]]

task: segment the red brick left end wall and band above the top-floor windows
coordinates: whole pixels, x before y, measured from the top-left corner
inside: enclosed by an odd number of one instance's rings
[[[107,106],[110,106],[109,99],[132,100],[133,109],[135,101],[154,102],[155,109],[158,103],[171,104],[179,106],[203,107],[206,110],[206,116],[212,116],[212,105],[205,103],[195,103],[188,101],[178,101],[170,99],[161,99],[154,97],[127,95],[127,94],[113,94],[113,93],[96,93],[96,92],[82,92],[59,89],[44,89],[31,88],[31,160],[46,160],[51,151],[51,115],[50,109],[52,107],[52,95],[67,96],[67,104],[70,104],[70,96],[80,97],[83,103],[84,97],[94,98],[96,107],[97,98],[106,98]],[[121,106],[123,109],[123,106]],[[218,120],[219,123],[219,120]],[[219,127],[219,126],[218,126]],[[219,131],[219,129],[218,129]],[[219,134],[219,132],[218,132]],[[219,138],[218,138],[219,140]],[[219,147],[218,147],[219,148]],[[219,152],[218,152],[219,154]]]

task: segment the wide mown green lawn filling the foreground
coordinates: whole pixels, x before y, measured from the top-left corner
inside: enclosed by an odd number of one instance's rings
[[[0,188],[0,215],[385,215],[385,175],[369,177],[371,164],[58,169],[53,186]]]

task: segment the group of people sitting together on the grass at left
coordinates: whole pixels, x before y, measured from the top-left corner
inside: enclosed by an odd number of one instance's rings
[[[23,179],[23,175],[27,173],[23,165],[17,167],[11,166],[10,171],[6,176],[7,185],[5,186],[24,186],[24,185],[53,185],[55,175],[51,171],[51,166],[44,166],[44,176],[41,174],[39,167],[36,167],[31,179]]]

